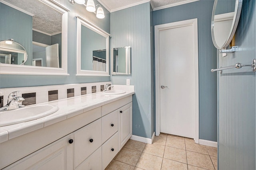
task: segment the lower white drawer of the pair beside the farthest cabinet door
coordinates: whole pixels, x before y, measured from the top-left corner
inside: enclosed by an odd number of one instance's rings
[[[102,145],[102,169],[105,169],[118,153],[118,132]]]

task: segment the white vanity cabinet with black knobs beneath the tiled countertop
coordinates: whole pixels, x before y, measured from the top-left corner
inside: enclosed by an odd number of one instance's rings
[[[105,169],[131,135],[132,95],[0,143],[0,169]]]

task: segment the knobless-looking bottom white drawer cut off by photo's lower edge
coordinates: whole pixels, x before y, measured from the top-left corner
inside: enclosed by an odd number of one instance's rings
[[[101,170],[102,162],[102,148],[99,147],[91,156],[89,156],[82,164],[80,164],[76,170]]]

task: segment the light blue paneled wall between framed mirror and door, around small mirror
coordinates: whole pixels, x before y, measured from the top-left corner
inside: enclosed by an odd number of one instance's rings
[[[151,139],[154,133],[154,78],[150,3],[112,12],[110,18],[110,48],[131,46],[131,74],[112,75],[111,81],[126,84],[129,78],[130,84],[135,86],[133,135]]]

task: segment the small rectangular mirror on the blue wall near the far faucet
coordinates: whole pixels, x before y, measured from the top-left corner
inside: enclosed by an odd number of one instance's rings
[[[131,74],[131,47],[118,47],[111,50],[112,74]]]

